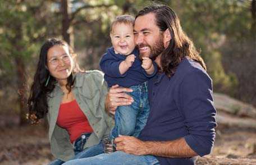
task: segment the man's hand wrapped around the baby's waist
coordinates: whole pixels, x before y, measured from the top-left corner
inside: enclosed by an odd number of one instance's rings
[[[118,85],[113,85],[107,94],[105,100],[105,107],[106,110],[111,113],[115,114],[116,108],[118,106],[128,106],[134,102],[134,99],[126,92],[131,92],[132,89],[119,87]]]

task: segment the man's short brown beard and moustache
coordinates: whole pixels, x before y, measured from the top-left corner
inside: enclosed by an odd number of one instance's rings
[[[138,45],[138,47],[149,47],[151,50],[149,58],[152,59],[152,61],[154,61],[157,58],[157,56],[159,56],[159,54],[161,54],[164,51],[163,37],[159,36],[159,39],[156,41],[156,43],[153,44],[153,46],[148,44],[140,44]],[[144,57],[143,54],[140,54],[140,59],[142,59],[142,57]]]

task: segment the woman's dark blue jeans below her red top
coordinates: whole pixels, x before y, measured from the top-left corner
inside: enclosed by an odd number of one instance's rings
[[[73,147],[75,157],[70,160],[94,157],[95,155],[104,153],[103,144],[101,142],[97,145],[84,149],[84,145],[89,136],[90,133],[82,134],[79,138],[76,139],[76,141],[74,141]],[[49,163],[49,165],[60,165],[63,163],[65,162],[61,161],[60,159],[56,159],[55,161]]]

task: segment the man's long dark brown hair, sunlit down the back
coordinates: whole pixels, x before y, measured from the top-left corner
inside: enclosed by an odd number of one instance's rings
[[[154,13],[156,24],[161,31],[168,29],[171,34],[170,44],[164,49],[161,56],[162,71],[168,77],[175,74],[177,66],[186,56],[199,62],[204,70],[206,70],[202,57],[199,56],[199,52],[194,47],[193,42],[182,30],[179,17],[170,7],[164,4],[152,4],[139,11],[135,20],[137,17],[147,15],[148,13]]]

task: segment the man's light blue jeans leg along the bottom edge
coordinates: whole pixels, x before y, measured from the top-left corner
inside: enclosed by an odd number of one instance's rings
[[[100,154],[95,157],[75,159],[63,165],[159,165],[156,157],[152,155],[133,155],[124,152],[113,152],[111,154]]]

